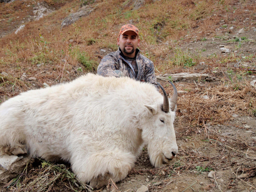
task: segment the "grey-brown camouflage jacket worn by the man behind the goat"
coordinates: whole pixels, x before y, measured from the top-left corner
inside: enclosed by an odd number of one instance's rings
[[[141,82],[149,82],[155,85],[158,90],[153,62],[141,55],[138,49],[136,50],[136,62],[138,66],[137,77],[135,77],[133,67],[124,59],[124,55],[119,48],[116,52],[109,53],[101,60],[97,73],[104,77],[119,77],[115,70],[120,70],[123,72],[124,76],[131,77]]]

